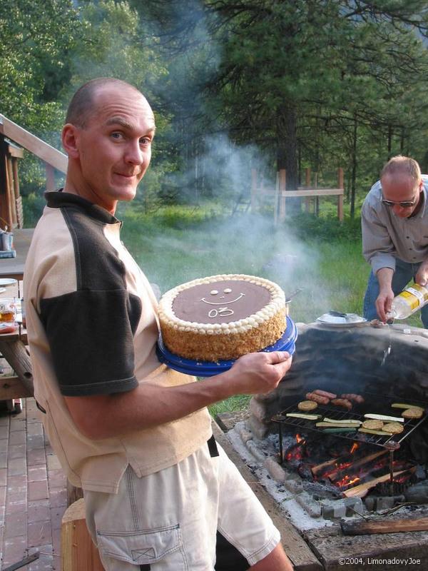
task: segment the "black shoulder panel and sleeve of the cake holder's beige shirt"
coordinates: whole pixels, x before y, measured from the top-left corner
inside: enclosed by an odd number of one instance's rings
[[[79,205],[61,208],[76,260],[76,291],[42,299],[41,321],[65,396],[120,393],[138,385],[133,335],[141,300],[126,288],[126,267],[104,235],[106,222]]]

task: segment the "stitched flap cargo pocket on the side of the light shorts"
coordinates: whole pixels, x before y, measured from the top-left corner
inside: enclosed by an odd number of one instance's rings
[[[129,532],[97,532],[98,550],[103,559],[111,558],[133,565],[153,565],[162,569],[187,571],[180,525],[157,527],[153,530]],[[113,570],[114,562],[111,566]],[[107,567],[110,570],[110,567]]]

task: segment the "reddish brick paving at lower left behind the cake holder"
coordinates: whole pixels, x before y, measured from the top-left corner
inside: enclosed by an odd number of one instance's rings
[[[0,410],[1,570],[35,551],[28,571],[61,569],[61,518],[66,510],[66,477],[44,435],[34,398],[23,410]]]

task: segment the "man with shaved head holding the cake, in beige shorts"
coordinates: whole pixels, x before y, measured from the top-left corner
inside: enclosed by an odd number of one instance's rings
[[[89,81],[68,107],[66,183],[46,193],[24,273],[44,427],[68,479],[83,488],[88,529],[107,571],[213,570],[216,530],[251,569],[290,571],[279,532],[213,440],[205,408],[270,392],[290,355],[243,355],[201,383],[156,358],[156,298],[114,216],[118,201],[136,195],[154,133],[146,98],[123,81]],[[211,288],[204,308],[230,318],[253,289],[231,297],[228,283],[215,297]],[[277,325],[280,304],[272,295],[258,310],[265,330]],[[240,318],[239,327],[229,320],[222,333],[235,332],[238,343],[247,332],[249,340],[258,323],[251,319]],[[214,325],[222,328],[213,323],[207,338]]]

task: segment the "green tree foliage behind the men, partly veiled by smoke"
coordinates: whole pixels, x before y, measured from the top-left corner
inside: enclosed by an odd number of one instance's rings
[[[158,131],[138,212],[248,196],[250,168],[287,186],[345,168],[357,212],[389,156],[428,170],[422,0],[11,0],[0,6],[0,112],[60,148],[94,76],[148,96]],[[21,161],[24,194],[44,168]],[[332,185],[334,182],[329,182]]]

